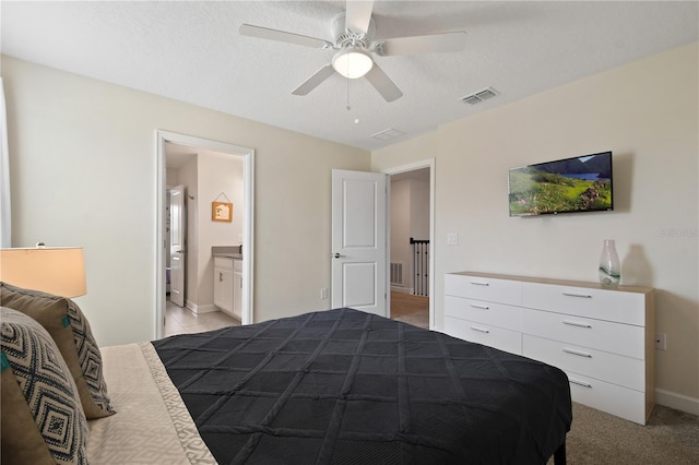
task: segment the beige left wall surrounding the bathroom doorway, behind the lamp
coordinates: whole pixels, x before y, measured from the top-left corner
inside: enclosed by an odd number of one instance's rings
[[[331,169],[368,152],[9,57],[2,76],[13,247],[84,247],[100,345],[155,336],[157,129],[256,151],[256,320],[330,306]]]

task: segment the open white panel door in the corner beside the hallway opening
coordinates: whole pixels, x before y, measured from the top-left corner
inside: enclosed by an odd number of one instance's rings
[[[332,307],[387,317],[387,179],[332,170]]]

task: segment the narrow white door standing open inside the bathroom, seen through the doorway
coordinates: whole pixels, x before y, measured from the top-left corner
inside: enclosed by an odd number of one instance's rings
[[[179,307],[185,307],[186,205],[185,186],[170,189],[170,301]]]

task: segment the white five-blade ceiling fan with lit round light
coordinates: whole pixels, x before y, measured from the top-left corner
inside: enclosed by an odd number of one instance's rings
[[[337,14],[331,21],[334,41],[251,24],[240,25],[239,32],[246,36],[269,40],[339,50],[329,64],[325,64],[296,87],[292,92],[294,95],[307,95],[334,72],[337,72],[347,79],[366,78],[386,102],[396,100],[403,93],[379,68],[371,53],[388,57],[434,51],[460,51],[465,47],[466,33],[463,31],[372,41],[376,32],[376,25],[371,17],[372,10],[374,1],[347,0],[345,12]]]

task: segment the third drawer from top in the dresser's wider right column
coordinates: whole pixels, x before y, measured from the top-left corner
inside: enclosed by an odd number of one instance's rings
[[[522,348],[524,357],[544,361],[561,370],[574,371],[639,392],[645,390],[643,360],[530,334],[522,336]]]

